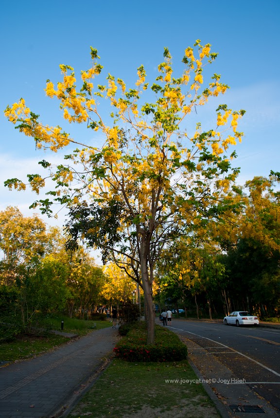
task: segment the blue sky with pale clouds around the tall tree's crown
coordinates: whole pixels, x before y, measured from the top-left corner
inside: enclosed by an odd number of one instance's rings
[[[90,45],[97,48],[105,74],[122,78],[130,87],[143,64],[156,77],[164,47],[174,67],[181,68],[185,48],[196,39],[219,52],[211,72],[222,74],[231,88],[220,99],[233,109],[245,109],[235,166],[238,183],[255,175],[280,171],[280,0],[225,1],[10,1],[1,5],[0,108],[21,97],[43,122],[62,124],[58,102],[45,96],[46,80],[60,80],[59,64],[87,70]],[[179,74],[178,74],[179,75]],[[210,105],[209,111],[216,106]],[[25,214],[38,197],[31,192],[9,192],[7,178],[26,178],[37,172],[37,161],[47,159],[35,150],[33,139],[20,134],[0,112],[0,210],[17,205]],[[205,109],[207,112],[207,108]],[[207,115],[203,115],[207,121]],[[72,127],[73,134],[81,131]],[[84,129],[82,135],[88,135]],[[59,161],[55,155],[53,161]],[[63,225],[47,220],[49,225]]]

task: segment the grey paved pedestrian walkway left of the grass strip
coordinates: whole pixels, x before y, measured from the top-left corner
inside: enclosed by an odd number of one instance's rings
[[[39,357],[0,368],[1,418],[51,418],[105,362],[118,331],[104,328]]]

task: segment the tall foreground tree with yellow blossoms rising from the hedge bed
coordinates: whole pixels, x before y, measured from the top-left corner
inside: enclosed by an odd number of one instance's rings
[[[104,139],[100,149],[71,139],[59,126],[43,125],[23,99],[5,111],[20,132],[35,139],[37,148],[56,152],[70,143],[79,144],[79,149],[65,156],[70,164],[61,164],[54,172],[49,162],[40,161],[57,182],[58,188],[49,194],[70,207],[72,242],[82,238],[102,249],[104,261],[111,258],[123,268],[130,264],[144,292],[149,344],[154,343],[154,268],[162,249],[184,227],[220,213],[220,193],[238,174],[230,168],[235,153],[223,154],[241,140],[237,124],[243,110],[233,111],[220,104],[215,126],[203,130],[198,122],[196,129],[187,127],[192,111],[228,88],[220,82],[220,75],[214,74],[202,89],[204,67],[217,54],[210,52],[210,44],[203,46],[199,40],[194,47],[197,52],[191,47],[185,50],[185,70],[179,77],[173,76],[171,55],[164,49],[164,62],[159,64],[159,76],[151,86],[156,95],[153,104],[142,100],[148,87],[142,65],[136,87],[127,89],[122,79],[108,74],[106,85],[94,88],[93,78],[103,67],[97,51],[91,48],[93,65],[82,71],[79,90],[73,69],[60,66],[63,80],[56,89],[48,81],[46,94],[57,97],[67,121],[85,122],[88,128],[99,131]],[[98,101],[104,96],[113,109],[111,122],[98,110]],[[35,192],[45,184],[38,174],[29,174],[28,179]],[[15,178],[5,184],[9,188],[26,187]],[[47,198],[33,207],[41,205],[44,212],[51,213],[52,204]]]

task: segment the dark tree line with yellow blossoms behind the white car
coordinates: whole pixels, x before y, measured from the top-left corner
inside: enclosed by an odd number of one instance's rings
[[[159,264],[156,300],[189,316],[234,310],[280,316],[279,173],[255,177],[224,196],[238,204],[226,220],[180,237]]]

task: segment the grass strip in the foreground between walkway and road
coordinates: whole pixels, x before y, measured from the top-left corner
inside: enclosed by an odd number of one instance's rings
[[[178,382],[168,383],[168,379]],[[187,361],[129,363],[115,359],[68,417],[220,417]]]

